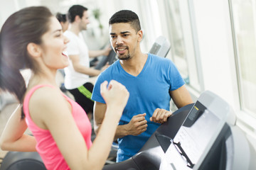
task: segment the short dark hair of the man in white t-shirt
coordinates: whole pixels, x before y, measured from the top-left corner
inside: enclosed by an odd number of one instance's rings
[[[68,21],[73,23],[75,21],[75,16],[82,18],[84,11],[88,9],[85,6],[73,5],[68,10]]]

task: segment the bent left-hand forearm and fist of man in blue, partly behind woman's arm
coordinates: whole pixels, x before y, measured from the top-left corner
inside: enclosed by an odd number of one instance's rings
[[[94,130],[97,135],[97,132],[100,130],[100,125],[105,116],[105,111],[107,106],[105,103],[100,103],[95,101],[94,105]],[[147,122],[145,119],[146,113],[134,115],[132,120],[127,125],[118,125],[117,131],[114,135],[114,140],[126,135],[139,135],[142,132],[146,131]]]

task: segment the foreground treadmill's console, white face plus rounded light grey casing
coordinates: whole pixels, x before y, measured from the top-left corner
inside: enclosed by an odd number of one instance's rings
[[[171,140],[160,169],[199,169],[228,125],[235,125],[228,103],[210,91],[204,92]]]

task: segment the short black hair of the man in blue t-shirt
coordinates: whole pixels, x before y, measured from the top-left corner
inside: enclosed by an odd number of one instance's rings
[[[114,13],[114,15],[110,18],[109,24],[113,23],[130,23],[131,26],[136,30],[141,30],[141,26],[139,23],[139,17],[136,13],[129,10],[122,10]]]

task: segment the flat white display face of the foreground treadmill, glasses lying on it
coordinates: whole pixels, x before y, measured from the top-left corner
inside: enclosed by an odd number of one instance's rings
[[[192,169],[213,140],[219,123],[220,119],[197,101],[166,152],[173,169]]]

